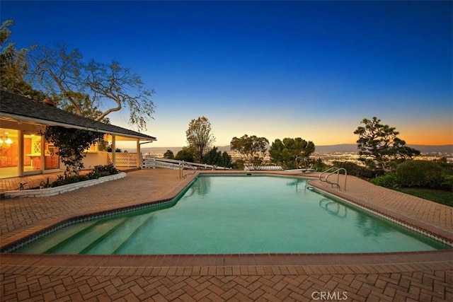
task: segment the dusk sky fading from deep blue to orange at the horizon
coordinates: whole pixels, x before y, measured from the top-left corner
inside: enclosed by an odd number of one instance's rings
[[[453,144],[452,1],[1,1],[16,47],[55,43],[154,88],[147,146],[243,134],[354,144],[367,117],[407,144]],[[129,127],[127,114],[110,117]]]

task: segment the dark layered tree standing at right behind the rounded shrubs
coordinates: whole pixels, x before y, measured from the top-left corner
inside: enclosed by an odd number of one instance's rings
[[[357,127],[354,134],[359,136],[357,147],[361,160],[369,168],[391,170],[391,162],[404,161],[420,154],[420,151],[406,146],[406,141],[397,137],[399,132],[395,131],[395,127],[381,124],[377,117],[372,120],[365,118],[360,123],[365,124],[365,127]]]

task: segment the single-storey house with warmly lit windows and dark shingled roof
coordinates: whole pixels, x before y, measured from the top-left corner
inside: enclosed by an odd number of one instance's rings
[[[140,146],[156,141],[155,137],[130,129],[104,124],[58,109],[49,100],[36,102],[22,95],[0,91],[0,178],[39,173],[54,173],[64,169],[55,154],[57,147],[45,141],[47,126],[86,129],[105,134],[111,141],[112,153],[92,146],[84,158],[85,168],[113,163],[115,166],[140,167]],[[117,141],[136,141],[137,153],[117,153]],[[121,158],[121,155],[125,155]]]

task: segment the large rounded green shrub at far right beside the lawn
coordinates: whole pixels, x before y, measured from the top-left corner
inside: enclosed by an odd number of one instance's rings
[[[443,180],[440,165],[432,161],[405,161],[396,174],[402,187],[440,187]]]

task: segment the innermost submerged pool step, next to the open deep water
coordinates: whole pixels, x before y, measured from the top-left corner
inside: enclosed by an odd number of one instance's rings
[[[139,216],[132,216],[121,228],[116,228],[114,232],[110,233],[111,236],[103,236],[93,245],[89,250],[84,250],[86,254],[103,254],[113,255],[117,250],[127,243],[130,237],[134,235],[142,226],[147,224],[154,213],[142,214]]]

